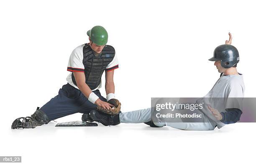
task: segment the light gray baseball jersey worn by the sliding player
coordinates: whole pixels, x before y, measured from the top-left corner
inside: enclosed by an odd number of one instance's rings
[[[228,108],[237,108],[242,110],[242,99],[244,97],[244,82],[243,75],[222,75],[210,92],[204,97],[197,100],[197,103],[203,103],[202,112],[210,119],[216,122],[218,128],[223,127],[225,124],[220,122],[212,115],[208,109],[208,105],[217,109],[219,112],[227,112]]]

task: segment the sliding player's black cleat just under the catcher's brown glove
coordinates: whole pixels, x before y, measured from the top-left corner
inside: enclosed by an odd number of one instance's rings
[[[120,122],[114,122],[113,120],[114,115],[108,115],[106,113],[102,113],[97,110],[92,110],[90,112],[90,117],[92,118],[92,120],[100,122],[105,126],[120,124]]]

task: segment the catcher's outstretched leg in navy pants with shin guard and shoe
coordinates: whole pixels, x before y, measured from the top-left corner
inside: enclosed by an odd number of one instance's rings
[[[100,100],[106,101],[100,95],[99,90],[93,91]],[[13,122],[12,128],[35,128],[36,126],[47,124],[51,120],[60,117],[72,115],[74,113],[89,113],[91,110],[96,109],[95,104],[90,102],[83,93],[66,84],[59,90],[59,94],[47,102],[43,107],[37,109],[31,117],[20,117]]]

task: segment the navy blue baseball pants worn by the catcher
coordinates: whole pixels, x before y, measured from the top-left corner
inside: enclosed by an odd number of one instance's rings
[[[100,95],[99,90],[93,92],[100,97],[100,100],[107,101]],[[78,112],[89,113],[96,107],[97,105],[90,102],[80,90],[67,83],[59,89],[59,95],[52,98],[40,110],[44,111],[51,121]]]

